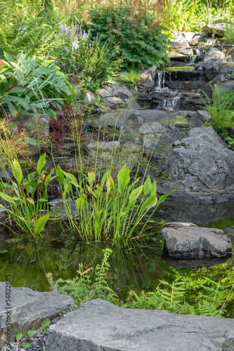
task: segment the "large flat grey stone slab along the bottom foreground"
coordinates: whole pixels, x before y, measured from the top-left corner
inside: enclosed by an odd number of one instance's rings
[[[96,299],[50,326],[46,351],[233,351],[234,319],[124,309]]]

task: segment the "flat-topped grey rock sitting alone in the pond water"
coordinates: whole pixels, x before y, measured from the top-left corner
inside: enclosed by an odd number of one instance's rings
[[[164,246],[172,258],[221,258],[230,255],[233,246],[223,230],[204,227],[165,227]]]

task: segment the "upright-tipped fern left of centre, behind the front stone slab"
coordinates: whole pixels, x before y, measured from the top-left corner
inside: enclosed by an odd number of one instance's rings
[[[100,265],[96,265],[95,284],[92,284],[89,274],[93,269],[89,268],[88,270],[84,271],[81,263],[79,265],[79,270],[77,271],[79,273],[79,277],[77,276],[74,279],[63,280],[59,278],[56,280],[56,282],[54,282],[52,274],[46,273],[51,289],[53,291],[58,291],[58,293],[64,293],[65,295],[72,296],[77,305],[80,305],[93,298],[103,298],[110,301],[115,300],[116,295],[114,291],[109,288],[106,277],[110,267],[108,264],[108,258],[111,253],[112,251],[110,249],[103,250],[102,263]],[[62,286],[60,286],[60,284],[62,284]]]

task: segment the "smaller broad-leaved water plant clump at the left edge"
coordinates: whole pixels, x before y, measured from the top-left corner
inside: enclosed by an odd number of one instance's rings
[[[46,154],[39,158],[37,172],[34,171],[24,178],[20,164],[15,159],[11,163],[11,168],[17,183],[12,181],[11,185],[6,183],[0,185],[0,198],[4,201],[4,206],[1,204],[0,206],[8,213],[10,225],[13,221],[22,232],[33,237],[41,235],[50,212],[47,189],[53,179],[51,177],[53,170],[46,176],[46,171],[42,171],[45,164]]]

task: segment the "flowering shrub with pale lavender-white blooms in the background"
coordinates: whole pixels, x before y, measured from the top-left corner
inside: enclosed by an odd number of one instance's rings
[[[93,81],[97,88],[116,77],[122,64],[117,57],[118,47],[113,47],[109,41],[100,43],[98,34],[93,37],[90,29],[60,25],[55,39],[57,47],[52,54],[66,74],[77,74],[87,83]]]

